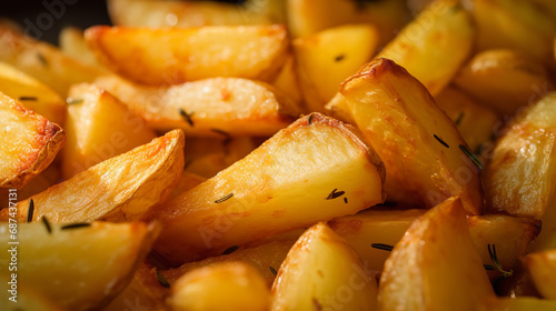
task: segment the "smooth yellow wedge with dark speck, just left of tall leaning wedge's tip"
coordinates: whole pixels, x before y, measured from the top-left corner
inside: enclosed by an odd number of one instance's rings
[[[338,86],[373,58],[378,31],[371,24],[341,26],[298,38],[292,46],[309,112],[324,112]]]

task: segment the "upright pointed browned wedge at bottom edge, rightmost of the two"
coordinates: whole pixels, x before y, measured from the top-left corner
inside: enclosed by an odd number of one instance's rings
[[[457,281],[456,281],[457,280]],[[475,310],[495,295],[464,208],[450,198],[416,220],[386,260],[379,310]]]

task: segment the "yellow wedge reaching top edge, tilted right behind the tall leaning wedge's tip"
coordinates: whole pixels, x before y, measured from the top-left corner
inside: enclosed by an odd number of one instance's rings
[[[473,22],[457,0],[433,2],[380,51],[437,94],[469,57]]]

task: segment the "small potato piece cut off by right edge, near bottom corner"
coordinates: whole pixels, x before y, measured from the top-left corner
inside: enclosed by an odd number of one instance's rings
[[[522,259],[544,298],[556,300],[556,249],[529,253]]]

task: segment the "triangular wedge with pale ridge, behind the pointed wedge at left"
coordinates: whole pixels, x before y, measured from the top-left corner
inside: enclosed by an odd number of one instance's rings
[[[70,88],[64,129],[68,131],[62,153],[64,180],[157,137],[118,99],[89,83]]]

